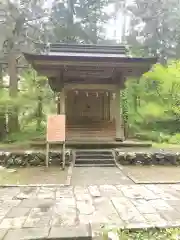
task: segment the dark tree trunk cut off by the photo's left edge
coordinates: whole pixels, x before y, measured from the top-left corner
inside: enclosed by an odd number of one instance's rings
[[[2,65],[0,65],[0,90],[3,90],[3,73]],[[6,112],[0,109],[0,140],[6,137],[7,127],[6,127]]]

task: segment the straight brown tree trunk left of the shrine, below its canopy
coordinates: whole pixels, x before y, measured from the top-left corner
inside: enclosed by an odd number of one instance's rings
[[[9,96],[13,99],[18,94],[18,78],[16,68],[16,56],[14,53],[9,53],[8,57],[8,73],[9,73]],[[17,132],[19,130],[18,110],[17,107],[9,107],[8,116],[8,130],[9,133]]]

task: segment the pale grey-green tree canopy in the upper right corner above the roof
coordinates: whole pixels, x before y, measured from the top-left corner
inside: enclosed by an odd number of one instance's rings
[[[180,56],[180,5],[178,0],[135,0],[131,13],[128,43],[135,54],[167,58]]]

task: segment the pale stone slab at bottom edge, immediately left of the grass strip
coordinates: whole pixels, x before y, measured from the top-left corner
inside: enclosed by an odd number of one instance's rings
[[[90,226],[80,225],[77,227],[52,227],[49,233],[51,239],[92,239]]]

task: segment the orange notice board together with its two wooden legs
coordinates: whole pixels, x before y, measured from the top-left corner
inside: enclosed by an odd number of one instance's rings
[[[47,119],[46,167],[49,166],[50,144],[62,145],[62,168],[65,168],[65,115],[50,115]]]

